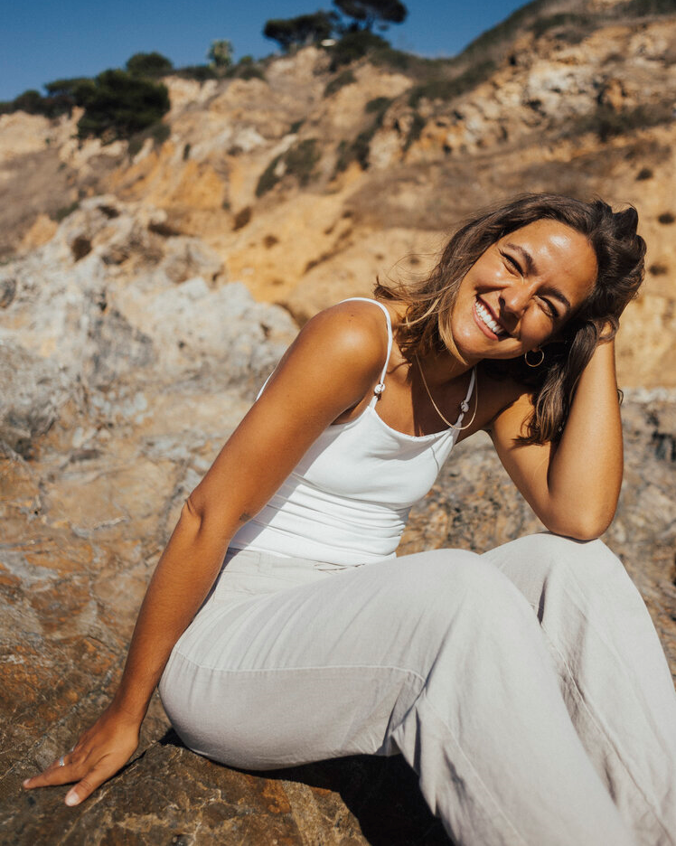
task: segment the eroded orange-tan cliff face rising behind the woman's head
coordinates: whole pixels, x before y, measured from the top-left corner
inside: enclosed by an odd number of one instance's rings
[[[421,86],[365,60],[335,84],[345,71],[331,73],[310,47],[270,61],[265,80],[168,79],[171,136],[135,155],[123,142],[76,141],[77,110],[52,123],[1,117],[0,246],[33,249],[82,196],[113,193],[165,211],[167,230],[200,237],[231,279],[303,321],[368,294],[403,257],[426,267],[455,222],[486,202],[598,194],[634,203],[649,245],[647,281],[620,334],[621,381],[674,385],[662,361],[676,353],[676,18],[592,25],[588,15],[608,4],[557,17],[559,5],[458,96],[447,73]]]

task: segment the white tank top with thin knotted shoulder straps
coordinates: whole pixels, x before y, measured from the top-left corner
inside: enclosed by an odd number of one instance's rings
[[[453,449],[456,428],[406,435],[378,416],[392,349],[390,313],[376,300],[351,299],[378,305],[387,318],[388,353],[373,398],[358,418],[324,429],[268,504],[234,535],[232,549],[343,565],[394,558],[411,506],[427,494]],[[475,379],[473,370],[455,427]]]

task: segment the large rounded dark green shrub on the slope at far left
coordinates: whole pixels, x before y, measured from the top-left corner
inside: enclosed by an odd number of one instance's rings
[[[75,91],[85,108],[78,121],[80,138],[130,138],[157,123],[169,111],[169,92],[162,84],[127,71],[103,71]]]

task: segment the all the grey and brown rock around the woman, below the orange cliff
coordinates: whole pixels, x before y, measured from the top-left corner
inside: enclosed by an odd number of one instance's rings
[[[66,808],[64,788],[21,791],[108,700],[184,497],[296,328],[237,283],[171,280],[159,247],[144,246],[127,278],[124,263],[103,258],[111,241],[132,260],[132,244],[149,236],[127,225],[123,205],[115,218],[99,213],[108,202],[91,201],[80,224],[73,215],[42,252],[4,268],[14,295],[0,344],[0,839],[446,842],[400,759],[239,773],[183,748],[156,700],[133,762],[87,803]],[[127,240],[117,230],[102,236],[110,220]],[[85,224],[92,249],[75,258]],[[623,496],[607,540],[676,670],[676,397],[630,391],[624,428]],[[485,550],[537,528],[492,447],[475,437],[412,513],[400,552]]]

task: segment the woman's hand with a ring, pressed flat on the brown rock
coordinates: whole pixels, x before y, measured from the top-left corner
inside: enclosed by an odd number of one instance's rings
[[[138,746],[139,728],[135,719],[108,708],[81,735],[70,752],[64,753],[40,775],[27,778],[23,786],[30,790],[77,782],[66,794],[66,804],[80,804],[132,757]]]

